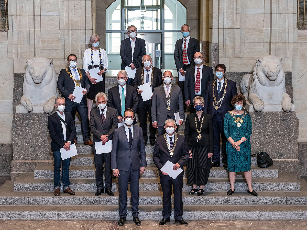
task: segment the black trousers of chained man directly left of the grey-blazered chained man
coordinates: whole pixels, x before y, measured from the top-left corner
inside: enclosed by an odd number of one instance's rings
[[[155,141],[156,140],[156,132],[157,128],[153,128],[152,122],[151,122],[151,99],[147,101],[143,101],[142,97],[140,97],[140,100],[138,102],[138,113],[140,115],[140,124],[141,128],[143,130],[143,136],[144,136],[144,141],[148,141],[148,136],[147,136],[147,112],[149,115],[149,130],[150,130],[150,136],[149,140],[150,141]]]

